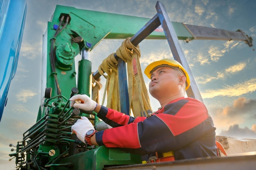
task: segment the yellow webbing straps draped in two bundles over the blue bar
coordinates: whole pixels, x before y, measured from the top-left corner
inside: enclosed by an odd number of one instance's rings
[[[117,49],[116,54],[124,60],[124,62],[127,62],[130,114],[132,110],[135,117],[147,116],[148,113],[152,113],[152,109],[140,67],[139,45],[134,46],[130,42],[130,38],[127,38],[122,42],[119,49]],[[107,107],[120,111],[117,60],[115,60],[114,53],[103,60],[98,70],[101,75],[103,75],[104,72],[108,74],[108,83],[106,84],[108,95]]]

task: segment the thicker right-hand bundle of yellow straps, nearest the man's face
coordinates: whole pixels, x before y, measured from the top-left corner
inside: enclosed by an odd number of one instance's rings
[[[147,116],[152,109],[140,67],[139,45],[134,46],[130,42],[130,38],[126,38],[116,53],[127,62],[130,109],[135,117]]]

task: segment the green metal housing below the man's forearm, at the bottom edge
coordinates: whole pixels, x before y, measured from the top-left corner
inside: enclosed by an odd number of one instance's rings
[[[102,170],[108,166],[138,164],[141,163],[141,157],[118,149],[100,146],[87,152],[61,159],[58,163],[73,163],[73,170]],[[70,170],[70,168],[56,166],[54,170]]]

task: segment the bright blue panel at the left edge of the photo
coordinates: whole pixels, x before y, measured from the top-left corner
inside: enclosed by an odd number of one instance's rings
[[[18,64],[18,56],[27,13],[27,0],[0,2],[0,121],[11,79]]]

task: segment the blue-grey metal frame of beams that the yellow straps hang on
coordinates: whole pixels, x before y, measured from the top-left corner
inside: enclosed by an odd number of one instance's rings
[[[155,29],[157,29],[158,26],[162,24],[164,33],[166,35],[166,39],[170,46],[171,52],[173,53],[174,59],[180,62],[180,64],[182,64],[182,66],[186,69],[186,71],[189,74],[191,85],[189,89],[186,91],[188,97],[192,97],[200,101],[203,101],[200,95],[198,86],[195,83],[195,79],[189,68],[188,62],[186,61],[186,57],[182,51],[179,40],[173,29],[173,25],[171,23],[170,18],[168,17],[168,13],[166,12],[164,5],[161,2],[157,1],[156,9],[157,9],[157,14],[150,21],[148,21],[148,23],[146,23],[145,26],[143,26],[135,35],[132,36],[132,38],[130,39],[131,43],[137,46],[142,40],[144,40],[148,35],[150,35],[150,33],[152,33]],[[115,57],[117,58],[118,65],[119,65],[118,73],[119,73],[119,89],[121,91],[120,93],[121,112],[129,115],[130,106],[128,101],[129,97],[128,97],[127,75],[126,75],[126,63],[123,60],[121,60],[121,58],[119,58],[117,55],[115,55]],[[93,76],[95,79],[100,77],[98,71],[95,72]]]

